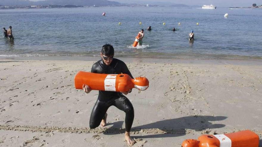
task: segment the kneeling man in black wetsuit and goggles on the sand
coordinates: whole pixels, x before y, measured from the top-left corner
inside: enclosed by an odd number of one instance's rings
[[[114,48],[110,44],[105,44],[102,47],[100,56],[102,57],[101,60],[97,61],[93,64],[91,72],[93,73],[101,73],[101,74],[128,74],[131,78],[130,71],[127,68],[127,65],[114,57]],[[91,91],[88,85],[83,85],[83,89],[85,93],[89,93]],[[127,95],[130,93],[132,89],[129,91],[121,91],[121,92],[114,92],[114,91],[99,91],[98,99],[93,107],[89,126],[91,129],[94,129],[99,126],[104,127],[106,125],[106,118],[107,118],[107,109],[110,106],[115,106],[119,110],[122,110],[126,113],[125,117],[125,139],[129,145],[135,144],[135,140],[130,137],[130,129],[133,124],[134,120],[134,108],[123,94]]]

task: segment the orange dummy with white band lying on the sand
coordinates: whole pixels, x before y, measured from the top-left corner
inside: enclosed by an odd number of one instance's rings
[[[258,145],[258,135],[250,130],[220,135],[201,135],[198,140],[187,139],[182,143],[182,147],[258,147]]]

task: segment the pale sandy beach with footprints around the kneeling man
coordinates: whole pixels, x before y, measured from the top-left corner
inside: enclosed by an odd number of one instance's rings
[[[202,134],[244,129],[262,139],[262,61],[120,59],[150,82],[127,95],[134,147],[180,147]],[[125,114],[110,107],[107,126],[90,129],[98,91],[74,88],[75,74],[97,60],[0,59],[0,146],[128,146]]]

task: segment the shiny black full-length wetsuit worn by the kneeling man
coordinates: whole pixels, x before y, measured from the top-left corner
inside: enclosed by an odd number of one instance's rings
[[[131,78],[133,78],[133,76],[127,68],[127,65],[123,61],[118,59],[113,59],[110,65],[106,65],[104,61],[101,59],[97,61],[95,64],[93,64],[91,72],[101,74],[123,73],[128,74]],[[90,116],[90,128],[94,129],[99,126],[99,124],[105,116],[105,113],[107,112],[107,109],[110,106],[115,106],[116,108],[126,113],[125,127],[126,131],[130,132],[134,120],[134,108],[129,99],[127,99],[127,97],[125,97],[121,92],[114,91],[99,91],[98,99],[96,101],[96,104],[94,105],[94,108]]]

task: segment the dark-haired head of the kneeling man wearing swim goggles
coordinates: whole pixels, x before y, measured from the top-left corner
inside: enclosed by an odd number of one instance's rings
[[[114,57],[113,46],[110,44],[103,45],[100,56],[106,65],[110,65]]]

